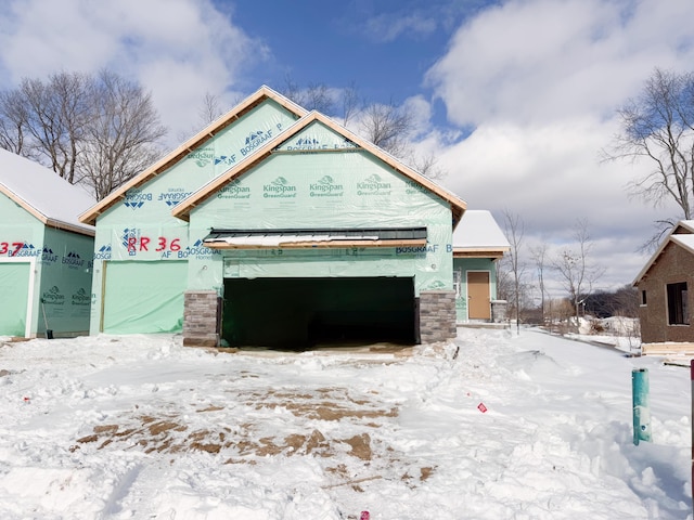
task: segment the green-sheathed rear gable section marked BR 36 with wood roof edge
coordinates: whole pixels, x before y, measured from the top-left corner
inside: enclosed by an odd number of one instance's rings
[[[90,333],[179,333],[189,257],[214,251],[171,216],[305,110],[267,88],[81,216],[97,227]]]

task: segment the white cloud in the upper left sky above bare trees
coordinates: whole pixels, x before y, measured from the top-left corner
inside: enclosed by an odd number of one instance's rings
[[[205,92],[231,105],[235,93],[229,88],[244,86],[244,66],[268,56],[262,43],[233,25],[232,12],[220,12],[209,0],[5,3],[0,72],[7,83],[0,87],[61,69],[107,67],[152,92],[174,141],[198,123]]]

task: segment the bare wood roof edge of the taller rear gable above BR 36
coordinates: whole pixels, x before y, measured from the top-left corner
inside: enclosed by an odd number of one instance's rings
[[[205,142],[213,139],[216,134],[224,130],[236,119],[246,115],[253,108],[258,106],[266,100],[272,100],[279,105],[283,106],[296,117],[301,117],[306,114],[306,109],[301,108],[299,105],[288,100],[287,98],[279,94],[274,90],[269,87],[262,86],[255,93],[250,94],[240,104],[234,106],[227,114],[218,118],[217,120],[210,122],[207,127],[202,129],[195,135],[190,138],[183,144],[178,146],[176,150],[169,152],[167,155],[162,157],[159,160],[150,166],[146,170],[141,172],[140,174],[133,177],[128,182],[114,190],[108,196],[104,197],[99,204],[93,206],[88,211],[85,211],[79,216],[79,220],[86,223],[93,224],[97,221],[97,218],[110,209],[113,205],[119,203],[126,197],[126,192],[132,190],[133,187],[141,186],[142,184],[151,181],[159,173],[166,171],[176,162],[180,161],[189,154],[191,154],[195,148],[200,147]]]

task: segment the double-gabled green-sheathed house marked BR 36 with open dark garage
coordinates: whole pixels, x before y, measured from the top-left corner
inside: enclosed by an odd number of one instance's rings
[[[210,346],[450,339],[465,208],[262,87],[80,217],[97,227],[91,333],[182,332]],[[465,272],[491,271],[498,244],[481,246]]]

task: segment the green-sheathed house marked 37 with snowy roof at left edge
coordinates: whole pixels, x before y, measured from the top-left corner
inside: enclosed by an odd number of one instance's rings
[[[0,148],[0,336],[88,334],[94,199],[57,173]]]

